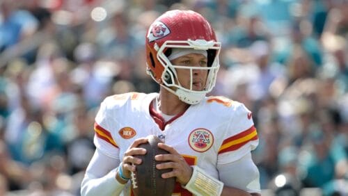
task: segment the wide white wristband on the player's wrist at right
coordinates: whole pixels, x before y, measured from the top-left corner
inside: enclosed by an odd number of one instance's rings
[[[191,179],[182,186],[189,190],[193,195],[219,196],[222,193],[223,182],[211,177],[204,170],[193,166]]]

